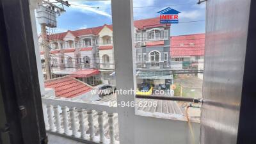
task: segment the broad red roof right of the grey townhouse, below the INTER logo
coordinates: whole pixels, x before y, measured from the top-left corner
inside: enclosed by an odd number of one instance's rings
[[[204,56],[205,34],[170,37],[171,56]]]

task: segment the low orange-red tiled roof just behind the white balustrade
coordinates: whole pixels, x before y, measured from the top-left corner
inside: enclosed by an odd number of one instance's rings
[[[45,88],[54,88],[56,97],[67,98],[77,97],[92,90],[92,86],[70,76],[45,81]]]

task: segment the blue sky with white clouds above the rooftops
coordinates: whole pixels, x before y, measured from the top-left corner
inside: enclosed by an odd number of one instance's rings
[[[197,2],[198,0],[133,0],[134,20],[159,17],[157,12],[170,6],[180,12],[180,23],[172,24],[171,36],[205,33],[205,21],[191,22],[205,20],[205,3],[196,4]],[[71,6],[65,7],[66,12],[57,17],[57,28],[49,29],[51,33],[60,33],[68,29],[92,28],[112,23],[111,1],[68,1],[68,3]],[[38,33],[40,33],[40,25],[37,28]]]

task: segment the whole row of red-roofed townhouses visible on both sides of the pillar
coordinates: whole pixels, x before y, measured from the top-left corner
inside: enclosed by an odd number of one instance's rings
[[[115,84],[112,25],[68,30],[48,37],[53,74],[60,76],[76,70],[99,69],[101,83]],[[170,69],[170,24],[160,24],[159,17],[134,20],[134,40],[138,83],[153,83],[156,79],[162,79],[159,83],[165,83],[166,79],[170,82],[172,75],[166,71]],[[42,38],[39,42],[42,44]],[[40,50],[44,60],[44,52]]]

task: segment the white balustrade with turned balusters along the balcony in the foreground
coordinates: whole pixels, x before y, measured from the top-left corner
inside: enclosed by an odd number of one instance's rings
[[[79,138],[85,143],[119,143],[116,107],[108,102],[85,102],[42,97],[46,129]],[[87,142],[86,142],[87,141]]]

